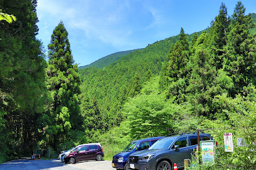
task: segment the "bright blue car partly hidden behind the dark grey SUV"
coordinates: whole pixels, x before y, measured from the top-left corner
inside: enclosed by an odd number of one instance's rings
[[[152,146],[152,144],[154,144],[158,139],[161,139],[161,138],[164,138],[164,137],[161,136],[161,137],[132,141],[124,148],[122,152],[115,154],[115,156],[113,156],[112,167],[116,169],[127,170],[127,160],[130,154],[136,151],[142,151],[144,149],[149,148],[150,146]]]

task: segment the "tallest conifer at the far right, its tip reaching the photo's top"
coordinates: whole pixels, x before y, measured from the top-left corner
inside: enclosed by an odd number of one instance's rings
[[[243,87],[255,83],[255,37],[249,30],[254,26],[250,14],[245,16],[245,8],[238,1],[229,28],[228,54],[223,66],[235,84],[233,95],[242,93]]]

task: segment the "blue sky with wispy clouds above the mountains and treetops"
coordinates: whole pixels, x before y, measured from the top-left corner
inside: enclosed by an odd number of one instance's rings
[[[179,34],[206,29],[221,2],[232,16],[237,1],[227,0],[38,0],[39,34],[47,53],[53,29],[63,21],[73,59],[85,66],[100,58],[146,47]],[[242,1],[246,14],[255,0]]]

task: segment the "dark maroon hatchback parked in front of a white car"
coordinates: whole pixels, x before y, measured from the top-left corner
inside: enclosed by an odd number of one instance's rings
[[[75,164],[78,161],[96,159],[101,161],[104,153],[100,143],[81,144],[73,148],[71,151],[65,153],[65,163]]]

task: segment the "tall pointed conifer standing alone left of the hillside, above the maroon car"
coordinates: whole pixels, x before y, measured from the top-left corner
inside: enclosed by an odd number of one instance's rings
[[[45,124],[45,132],[56,149],[58,141],[68,138],[70,129],[80,127],[80,78],[71,54],[68,31],[62,21],[53,30],[48,49],[47,88],[52,101],[48,118],[50,124]]]

